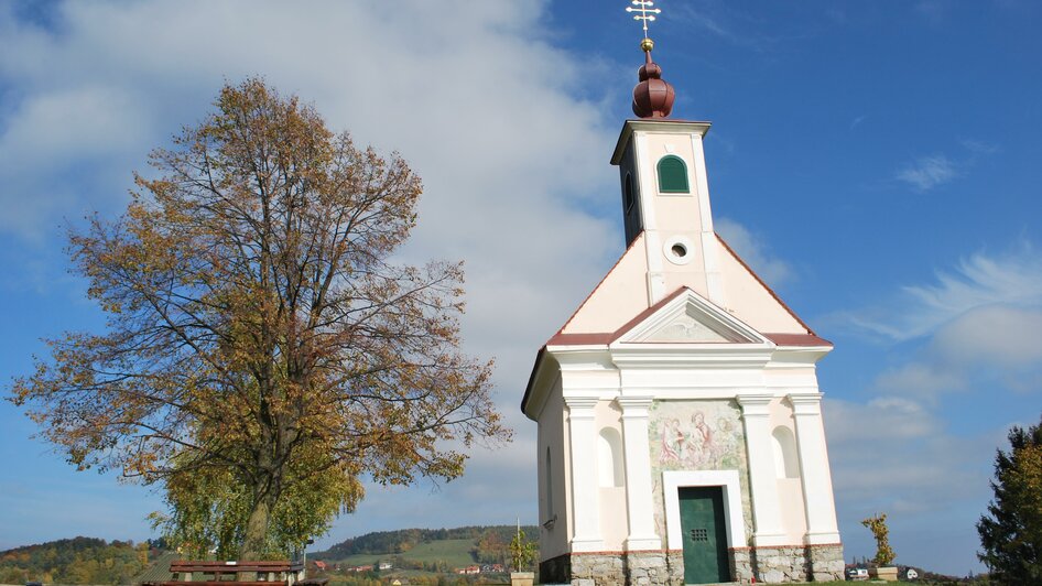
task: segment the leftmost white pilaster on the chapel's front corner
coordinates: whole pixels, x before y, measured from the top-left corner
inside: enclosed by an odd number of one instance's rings
[[[568,406],[568,435],[572,446],[573,552],[604,550],[600,535],[600,502],[597,487],[597,430],[594,425],[596,398],[564,398]]]

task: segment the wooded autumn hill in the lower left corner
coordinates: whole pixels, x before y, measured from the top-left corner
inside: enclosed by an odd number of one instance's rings
[[[148,545],[74,538],[0,552],[0,583],[128,584],[148,565]]]

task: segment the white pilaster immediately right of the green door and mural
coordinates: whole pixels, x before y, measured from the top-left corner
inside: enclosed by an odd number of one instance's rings
[[[741,394],[741,421],[746,427],[746,451],[749,456],[749,485],[752,493],[752,517],[756,545],[786,545],[781,524],[778,476],[774,471],[774,448],[771,444],[770,394]]]

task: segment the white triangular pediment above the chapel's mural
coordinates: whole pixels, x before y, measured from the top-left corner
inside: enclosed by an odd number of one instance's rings
[[[618,336],[619,344],[770,344],[740,319],[683,289]]]

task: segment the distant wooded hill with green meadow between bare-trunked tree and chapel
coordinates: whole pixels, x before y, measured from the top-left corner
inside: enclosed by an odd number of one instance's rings
[[[521,528],[528,539],[539,536],[539,528]],[[344,565],[368,565],[377,560],[398,560],[406,565],[435,568],[474,563],[503,564],[517,525],[471,525],[456,529],[400,529],[376,531],[345,540],[328,550],[308,553],[308,558]]]

